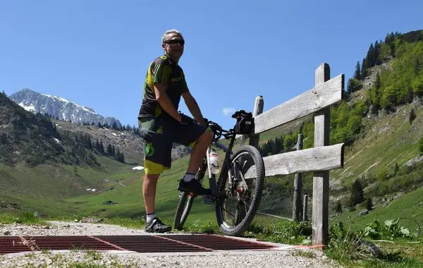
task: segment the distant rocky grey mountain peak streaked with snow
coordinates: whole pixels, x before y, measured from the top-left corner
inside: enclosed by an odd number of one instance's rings
[[[97,114],[94,109],[87,106],[80,106],[74,102],[69,102],[62,97],[51,96],[35,92],[30,89],[23,89],[9,96],[14,102],[22,106],[27,111],[34,113],[49,114],[54,118],[73,123],[107,123],[117,128],[121,128],[121,122],[114,117],[104,117]]]

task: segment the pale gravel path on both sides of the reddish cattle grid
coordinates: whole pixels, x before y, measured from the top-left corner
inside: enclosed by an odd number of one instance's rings
[[[0,225],[0,236],[140,235],[141,229],[109,224],[51,221],[51,226]],[[86,264],[86,265],[84,265]],[[0,255],[0,267],[300,267],[336,264],[314,250],[262,252],[133,253],[63,250]]]

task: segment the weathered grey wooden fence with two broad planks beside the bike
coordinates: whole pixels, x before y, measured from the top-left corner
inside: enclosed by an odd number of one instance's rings
[[[330,106],[343,97],[344,75],[330,79],[329,64],[321,64],[315,72],[315,86],[263,112],[263,97],[255,100],[255,129],[243,136],[241,143],[258,147],[259,134],[302,118],[314,116],[314,147],[264,157],[266,176],[313,172],[312,240],[313,245],[327,245],[329,236],[329,171],[343,168],[343,143],[329,145]],[[248,171],[247,171],[248,173]],[[247,176],[247,173],[245,174]]]

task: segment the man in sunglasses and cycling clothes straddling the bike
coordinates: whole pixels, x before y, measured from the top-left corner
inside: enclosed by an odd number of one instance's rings
[[[213,138],[213,132],[205,126],[200,107],[192,97],[182,68],[178,65],[183,54],[185,40],[178,30],[168,30],[161,38],[164,56],[149,64],[145,77],[144,95],[138,124],[145,140],[145,177],[142,183],[145,210],[145,231],[164,233],[171,226],[164,224],[155,213],[157,180],[164,169],[171,168],[173,142],[192,146],[188,171],[180,180],[178,190],[209,195],[210,190],[195,180],[202,157]],[[195,120],[178,113],[180,97]]]

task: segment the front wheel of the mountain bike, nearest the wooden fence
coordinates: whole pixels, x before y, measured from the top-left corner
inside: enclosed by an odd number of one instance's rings
[[[244,145],[231,156],[218,183],[216,219],[227,236],[239,236],[254,219],[262,199],[264,162],[257,148]],[[223,194],[224,193],[224,194]]]

